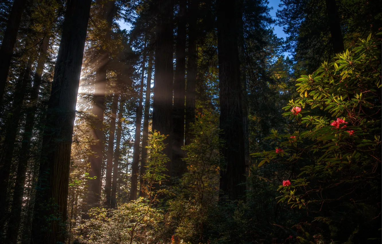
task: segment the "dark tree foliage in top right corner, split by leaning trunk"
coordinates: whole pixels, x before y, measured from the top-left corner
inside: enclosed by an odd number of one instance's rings
[[[325,0],[282,0],[278,24],[284,26],[287,48],[293,50],[301,74],[316,70],[324,60],[333,61],[329,19]],[[377,33],[382,26],[378,0],[335,0],[345,49],[359,37]],[[297,71],[298,72],[298,71]]]

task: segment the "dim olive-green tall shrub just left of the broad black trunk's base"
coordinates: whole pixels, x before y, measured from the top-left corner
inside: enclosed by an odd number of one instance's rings
[[[175,229],[175,237],[198,243],[204,239],[209,212],[216,206],[219,194],[218,114],[197,114],[191,124],[193,142],[183,147],[187,172],[173,188],[175,196],[168,201],[168,219]]]

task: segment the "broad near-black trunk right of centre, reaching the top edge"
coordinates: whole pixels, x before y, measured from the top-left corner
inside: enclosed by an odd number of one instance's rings
[[[220,148],[225,166],[220,171],[220,190],[235,200],[244,195],[246,165],[244,156],[243,110],[238,52],[240,7],[229,0],[217,1]]]

